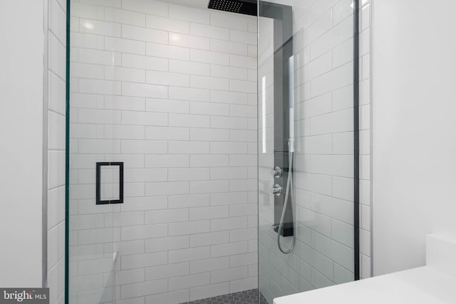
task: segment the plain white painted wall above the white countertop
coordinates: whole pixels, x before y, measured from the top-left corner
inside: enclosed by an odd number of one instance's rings
[[[456,235],[456,2],[373,1],[373,274]]]

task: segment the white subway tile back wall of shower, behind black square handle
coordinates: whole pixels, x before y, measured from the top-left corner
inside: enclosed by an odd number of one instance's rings
[[[72,303],[257,288],[257,19],[71,3]],[[101,161],[125,163],[124,204],[95,205]]]

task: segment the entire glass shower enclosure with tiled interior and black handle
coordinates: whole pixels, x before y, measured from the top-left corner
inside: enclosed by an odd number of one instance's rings
[[[66,304],[358,279],[357,1],[207,2],[68,1]]]

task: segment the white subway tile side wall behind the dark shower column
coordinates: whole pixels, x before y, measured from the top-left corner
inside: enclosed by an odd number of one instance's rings
[[[362,1],[361,62],[366,65],[369,5]],[[259,289],[269,303],[282,295],[354,278],[353,1],[294,1],[293,22],[297,240],[294,251],[284,255],[271,229],[273,23],[271,19],[259,21]],[[361,68],[360,102],[362,278],[371,276],[368,66]],[[282,239],[285,248],[291,245],[290,239]]]

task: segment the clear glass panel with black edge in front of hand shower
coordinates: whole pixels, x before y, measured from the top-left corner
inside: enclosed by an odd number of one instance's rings
[[[264,304],[356,273],[353,1],[273,2],[259,1]]]

